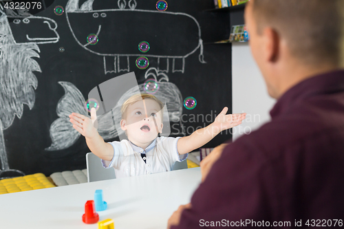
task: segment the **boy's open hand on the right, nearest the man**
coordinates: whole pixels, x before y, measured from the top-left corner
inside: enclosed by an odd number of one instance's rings
[[[213,124],[219,131],[224,131],[226,129],[230,129],[241,124],[241,121],[246,118],[246,113],[233,113],[226,115],[228,111],[228,107],[224,107],[224,109],[219,113],[219,115],[215,118]]]

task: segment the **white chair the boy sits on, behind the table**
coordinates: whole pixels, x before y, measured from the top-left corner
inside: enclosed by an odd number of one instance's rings
[[[86,154],[87,166],[87,182],[98,182],[105,179],[115,179],[116,174],[114,168],[104,168],[100,158],[93,153]],[[188,168],[186,160],[182,162],[175,162],[174,170]]]

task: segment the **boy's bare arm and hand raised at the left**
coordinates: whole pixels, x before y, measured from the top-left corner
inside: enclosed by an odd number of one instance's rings
[[[105,143],[100,137],[93,124],[97,119],[96,109],[91,109],[91,119],[80,113],[72,113],[69,115],[74,129],[86,138],[86,143],[90,151],[103,160],[111,161],[114,156],[114,148],[111,144]]]

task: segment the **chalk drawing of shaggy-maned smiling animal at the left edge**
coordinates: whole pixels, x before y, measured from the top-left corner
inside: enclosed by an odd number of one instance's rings
[[[25,25],[29,24],[30,20],[46,23],[47,28],[54,31],[56,37],[24,39],[23,42],[17,43],[12,34],[8,17],[16,17],[17,23],[22,19],[25,21]],[[53,28],[50,23],[55,27]],[[21,171],[10,169],[3,131],[12,125],[15,116],[19,119],[23,116],[24,105],[28,105],[30,109],[34,107],[34,90],[37,88],[38,80],[33,72],[41,72],[41,67],[33,57],[40,57],[38,43],[56,43],[58,41],[56,28],[56,22],[49,18],[34,17],[28,12],[23,12],[21,15],[12,13],[7,15],[0,10],[0,179],[25,175]]]

